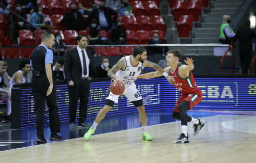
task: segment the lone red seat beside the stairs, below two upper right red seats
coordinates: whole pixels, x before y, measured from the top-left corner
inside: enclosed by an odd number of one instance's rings
[[[183,15],[180,17],[180,23],[177,26],[179,38],[190,38],[189,31],[193,30],[193,16]]]

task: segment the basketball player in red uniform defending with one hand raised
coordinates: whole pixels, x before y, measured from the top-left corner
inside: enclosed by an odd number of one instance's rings
[[[196,106],[202,100],[202,91],[197,87],[196,81],[191,70],[194,69],[194,64],[192,59],[187,58],[184,60],[187,65],[179,62],[181,58],[180,50],[170,50],[167,56],[167,65],[164,69],[174,78],[176,87],[181,96],[174,107],[173,118],[181,120],[181,134],[179,138],[174,141],[174,143],[189,143],[187,134],[187,122],[194,124],[194,133],[197,135],[200,129],[204,126],[205,121],[200,119],[194,119],[189,117],[186,111],[190,110],[192,107]],[[154,78],[162,76],[163,74],[159,72],[150,72],[146,74],[139,75],[137,78]]]

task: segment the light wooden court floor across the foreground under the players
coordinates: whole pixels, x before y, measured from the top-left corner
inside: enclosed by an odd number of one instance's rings
[[[153,142],[141,140],[141,128],[98,134],[0,152],[1,162],[256,162],[256,116],[217,115],[189,144],[173,144],[180,121],[148,126]]]

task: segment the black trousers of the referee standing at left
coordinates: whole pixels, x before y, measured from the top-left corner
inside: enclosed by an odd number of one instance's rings
[[[49,120],[51,133],[60,132],[60,121],[58,115],[56,87],[53,85],[52,93],[46,96],[46,93],[50,87],[49,80],[46,74],[41,74],[40,77],[32,76],[32,92],[34,96],[34,107],[36,113],[36,133],[37,137],[44,137],[44,125],[45,125],[45,99],[49,108]]]

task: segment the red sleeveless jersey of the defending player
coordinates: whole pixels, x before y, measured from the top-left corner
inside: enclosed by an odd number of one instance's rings
[[[197,87],[195,78],[191,71],[188,78],[181,78],[178,73],[178,68],[184,65],[182,63],[179,63],[176,70],[172,72],[172,68],[169,70],[169,75],[173,76],[175,80],[174,87],[177,88],[177,90],[180,91],[181,95],[191,94],[191,93],[202,93],[201,90]]]

